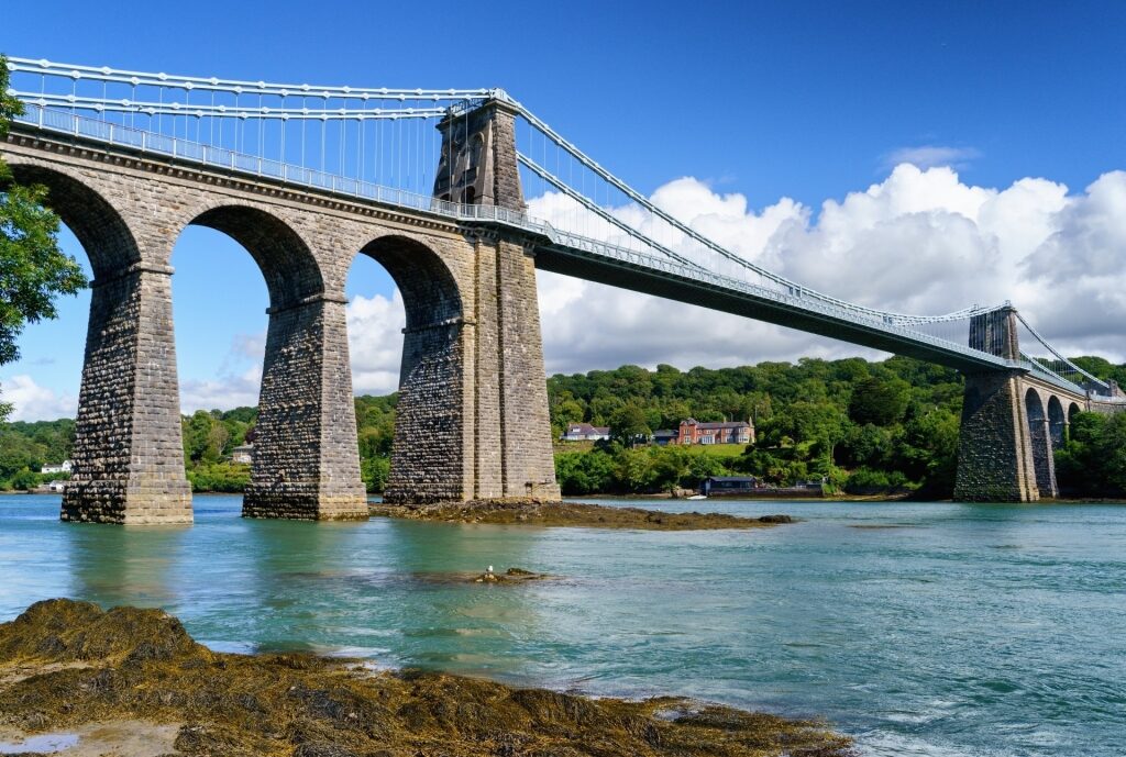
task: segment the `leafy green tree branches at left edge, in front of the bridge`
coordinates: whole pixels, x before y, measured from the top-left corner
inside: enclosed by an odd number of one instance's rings
[[[8,93],[8,61],[0,55],[0,137],[23,105]],[[44,207],[47,190],[12,181],[0,161],[0,364],[19,357],[24,326],[57,315],[54,298],[87,285],[81,267],[59,249],[59,216]],[[0,421],[11,407],[0,404]]]

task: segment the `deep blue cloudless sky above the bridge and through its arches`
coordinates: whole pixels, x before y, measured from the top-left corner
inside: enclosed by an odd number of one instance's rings
[[[1126,166],[1124,35],[1118,2],[68,1],[8,3],[0,52],[298,83],[503,87],[642,191],[695,177],[752,209],[793,198],[815,219],[900,162],[948,164],[967,187],[1045,178],[1072,193]],[[235,364],[232,346],[266,325],[249,255],[191,228],[173,264],[181,380],[252,363]],[[392,290],[366,261],[349,282],[356,296]],[[0,379],[77,395],[87,303],[29,328],[25,359]],[[756,359],[716,362],[736,357]]]

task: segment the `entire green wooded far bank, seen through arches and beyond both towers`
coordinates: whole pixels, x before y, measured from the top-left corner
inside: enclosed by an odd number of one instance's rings
[[[1126,385],[1126,366],[1075,362]],[[713,475],[754,475],[770,484],[823,479],[844,493],[912,492],[949,497],[954,488],[962,378],[909,358],[869,362],[803,359],[688,371],[671,366],[547,380],[553,439],[569,423],[609,426],[608,442],[555,444],[564,494],[637,494],[692,488]],[[360,468],[369,492],[387,480],[397,396],[357,397]],[[239,492],[248,466],[231,451],[253,440],[257,411],[185,416],[184,453],[197,492]],[[680,421],[750,420],[751,445],[650,447],[637,440]],[[0,425],[0,488],[27,489],[56,476],[36,471],[70,454],[74,422]],[[1062,489],[1074,496],[1126,490],[1126,415],[1080,414],[1056,453]]]

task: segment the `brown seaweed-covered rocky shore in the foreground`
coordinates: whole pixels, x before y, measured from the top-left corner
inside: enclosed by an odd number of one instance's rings
[[[159,610],[48,600],[0,624],[0,747],[60,742],[70,746],[53,754],[66,757],[852,754],[819,722],[358,660],[218,654]]]

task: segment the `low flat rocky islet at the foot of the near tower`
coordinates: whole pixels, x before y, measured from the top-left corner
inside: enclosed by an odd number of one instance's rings
[[[607,507],[606,505],[581,502],[544,502],[540,499],[476,499],[422,505],[369,503],[368,513],[382,517],[446,523],[645,529],[651,531],[761,529],[794,522],[789,515],[739,517],[723,513],[664,513],[641,507]]]

